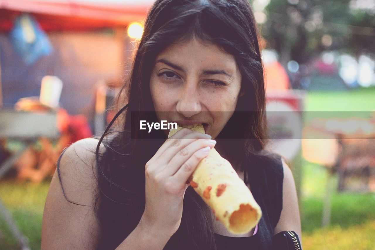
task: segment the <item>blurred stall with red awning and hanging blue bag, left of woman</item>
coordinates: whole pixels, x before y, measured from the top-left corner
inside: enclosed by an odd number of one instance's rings
[[[0,177],[16,166],[41,181],[65,146],[101,132],[153,2],[0,0]]]

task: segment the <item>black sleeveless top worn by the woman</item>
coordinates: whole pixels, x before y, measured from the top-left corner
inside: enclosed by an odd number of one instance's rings
[[[120,160],[123,161],[122,159]],[[119,163],[115,160],[111,164]],[[215,234],[217,250],[272,249],[273,229],[279,221],[282,210],[284,173],[281,157],[268,151],[262,151],[260,155],[246,164],[248,165],[246,169],[248,169],[251,192],[262,209],[262,217],[258,223],[257,233],[251,237],[243,238]],[[121,172],[121,174],[123,176],[144,175],[144,172],[141,173],[141,171],[144,171],[141,168],[134,169],[139,171],[139,173],[124,174]],[[123,171],[120,167],[114,168],[114,170]],[[106,174],[120,175],[117,172]],[[125,181],[125,183],[129,183],[127,179]],[[144,207],[144,204],[141,203],[142,200],[138,203],[135,200],[131,206],[115,202],[118,197],[121,197],[120,195],[123,195],[123,191],[118,190],[118,188],[110,185],[107,181],[103,181],[103,183],[101,190],[105,191],[105,195],[98,191],[98,195],[101,198],[98,208],[98,211],[100,211],[98,218],[102,230],[97,249],[109,250],[115,249],[134,230],[139,222],[139,218],[142,216],[143,210],[141,208],[142,206]],[[130,186],[130,190],[136,190],[136,188],[139,187]],[[177,240],[171,241],[171,243],[165,249],[187,249],[187,242]]]

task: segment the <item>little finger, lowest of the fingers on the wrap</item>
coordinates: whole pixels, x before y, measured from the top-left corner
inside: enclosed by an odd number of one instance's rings
[[[196,166],[198,166],[199,161],[206,157],[209,151],[210,147],[205,147],[196,151],[184,164],[182,164],[172,178],[178,183],[186,182],[196,169]]]

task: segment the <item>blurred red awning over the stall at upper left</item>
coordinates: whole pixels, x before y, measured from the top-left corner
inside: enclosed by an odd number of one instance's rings
[[[0,30],[9,31],[13,18],[23,12],[32,13],[46,31],[123,27],[132,21],[144,20],[154,0],[123,0],[121,4],[87,2],[0,0]]]

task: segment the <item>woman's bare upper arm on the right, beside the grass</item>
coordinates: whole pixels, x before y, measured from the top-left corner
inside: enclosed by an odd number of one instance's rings
[[[284,169],[282,210],[279,222],[273,232],[276,234],[281,231],[294,231],[297,233],[301,241],[301,219],[300,210],[298,207],[296,185],[294,184],[293,175],[289,166],[284,160],[282,160],[282,163]]]

